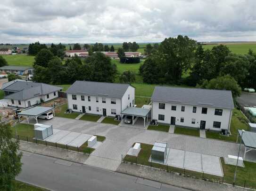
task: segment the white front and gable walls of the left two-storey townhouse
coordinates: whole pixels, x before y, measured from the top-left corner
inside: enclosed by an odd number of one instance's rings
[[[76,99],[73,99],[74,96],[72,95],[75,95]],[[84,100],[82,100],[83,96]],[[90,101],[88,97],[90,97]],[[134,106],[135,88],[129,86],[122,98],[109,98],[77,93],[67,93],[67,100],[68,108],[72,109],[74,112],[103,115],[103,111],[106,109],[107,116],[116,116],[121,115],[121,111],[123,111],[125,108]],[[114,104],[113,101],[115,101],[116,104]]]

